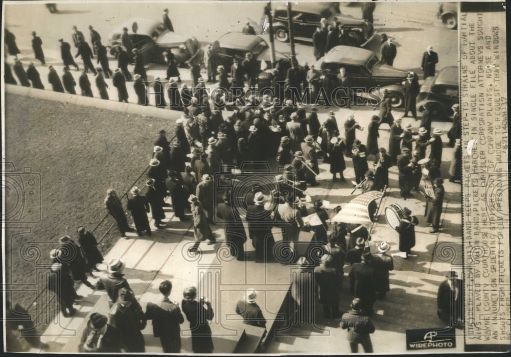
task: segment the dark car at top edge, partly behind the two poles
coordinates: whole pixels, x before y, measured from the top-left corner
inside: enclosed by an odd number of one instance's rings
[[[350,15],[342,15],[336,3],[299,3],[291,7],[291,31],[297,40],[312,41],[312,35],[320,26],[321,18],[327,23],[339,21],[349,32],[351,45],[364,47],[375,36],[373,24],[369,21],[356,19]],[[337,3],[338,4],[338,3]],[[276,3],[273,13],[273,31],[275,38],[282,42],[289,40],[288,12],[284,3]]]

